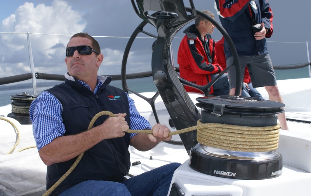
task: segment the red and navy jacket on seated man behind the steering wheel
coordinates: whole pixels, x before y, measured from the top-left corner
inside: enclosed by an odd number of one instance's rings
[[[223,70],[216,60],[215,41],[209,34],[204,36],[204,41],[200,39],[201,34],[194,24],[183,32],[186,35],[180,42],[177,56],[180,77],[204,86],[211,81],[210,74]],[[188,86],[185,86],[185,90],[203,94],[202,91]],[[213,93],[212,87],[210,93]]]

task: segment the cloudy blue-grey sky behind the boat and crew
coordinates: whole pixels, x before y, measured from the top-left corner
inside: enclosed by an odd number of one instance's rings
[[[193,2],[196,9],[212,11],[219,21],[213,0]],[[273,65],[307,62],[306,42],[311,46],[311,1],[269,0],[269,3],[274,15],[274,33],[268,39]],[[188,0],[184,4],[190,5]],[[130,0],[0,0],[0,32],[6,33],[0,34],[0,78],[30,73],[27,32],[30,33],[35,72],[64,74],[67,71],[65,49],[70,36],[87,32],[102,36],[95,37],[104,55],[99,74],[120,74],[128,39],[141,22]],[[188,25],[172,42],[175,66],[178,66],[179,42]],[[144,30],[156,34],[156,28],[150,24]],[[131,47],[127,73],[151,70],[151,46],[155,39],[146,38],[148,36],[142,33],[138,37]],[[214,30],[212,38],[221,38],[218,30]]]

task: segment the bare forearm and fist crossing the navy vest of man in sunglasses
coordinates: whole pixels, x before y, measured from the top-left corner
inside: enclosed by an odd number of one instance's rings
[[[126,114],[115,116],[109,117],[103,124],[88,131],[55,138],[39,150],[40,158],[49,166],[77,157],[104,139],[124,136],[124,131],[129,129],[124,118]]]

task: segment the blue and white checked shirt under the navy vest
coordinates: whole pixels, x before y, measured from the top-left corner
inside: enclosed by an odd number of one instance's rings
[[[94,90],[97,94],[99,87],[103,82],[97,78],[98,84]],[[77,80],[82,86],[91,90],[89,85],[85,82]],[[137,111],[134,100],[128,96],[129,110],[130,110],[130,125],[133,130],[151,129],[150,123],[142,117]],[[65,126],[62,119],[63,107],[61,103],[47,91],[43,91],[31,103],[29,113],[30,119],[33,123],[33,134],[37,144],[38,150],[43,146],[52,142],[53,139],[63,136],[65,134]],[[130,138],[137,133],[131,133]]]

